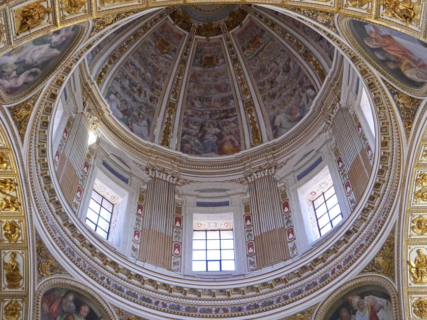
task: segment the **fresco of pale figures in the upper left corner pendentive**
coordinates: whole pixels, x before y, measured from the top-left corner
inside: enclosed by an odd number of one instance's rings
[[[0,57],[0,87],[6,94],[19,94],[50,73],[77,35],[68,26],[27,42]]]

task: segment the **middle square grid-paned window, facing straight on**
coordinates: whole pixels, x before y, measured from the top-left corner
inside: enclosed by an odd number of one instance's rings
[[[193,271],[234,271],[233,230],[193,231]]]

